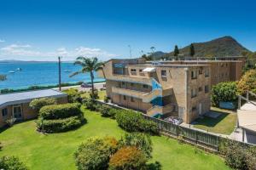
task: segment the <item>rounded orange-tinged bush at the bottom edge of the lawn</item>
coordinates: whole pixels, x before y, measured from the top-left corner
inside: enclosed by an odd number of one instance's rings
[[[141,150],[135,146],[125,146],[119,149],[109,161],[110,170],[146,169],[147,159]]]

